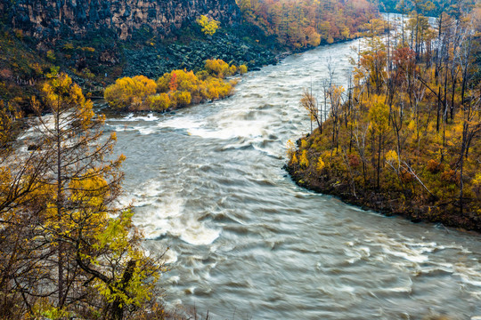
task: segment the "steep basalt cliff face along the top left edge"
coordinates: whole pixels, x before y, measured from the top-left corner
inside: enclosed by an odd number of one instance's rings
[[[240,22],[235,0],[0,0],[6,22],[39,40],[110,31],[121,40],[149,27],[160,38],[200,15],[224,25]]]

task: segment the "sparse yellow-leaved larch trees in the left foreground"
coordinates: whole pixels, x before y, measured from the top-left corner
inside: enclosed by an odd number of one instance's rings
[[[111,156],[115,133],[104,137],[105,117],[69,76],[49,76],[43,100],[33,101],[37,147],[17,151],[31,164],[14,171],[31,172],[19,185],[34,187],[3,215],[17,222],[2,220],[12,245],[0,258],[16,268],[1,272],[6,296],[21,292],[21,312],[31,316],[122,319],[151,299],[161,267],[145,256],[132,212],[117,207],[124,156]]]

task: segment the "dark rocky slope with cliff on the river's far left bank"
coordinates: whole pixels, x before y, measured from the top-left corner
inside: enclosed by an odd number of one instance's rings
[[[200,15],[221,21],[214,36]],[[273,63],[276,45],[242,23],[235,0],[0,0],[0,100],[23,97],[27,108],[25,92],[54,66],[98,96],[120,76],[157,78],[207,59]]]

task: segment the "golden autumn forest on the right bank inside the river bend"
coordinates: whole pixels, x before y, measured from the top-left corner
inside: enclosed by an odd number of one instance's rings
[[[481,11],[454,13],[430,24],[412,12],[390,34],[365,38],[349,87],[330,77],[319,94],[306,89],[300,105],[316,128],[298,148],[289,142],[298,184],[481,230]]]

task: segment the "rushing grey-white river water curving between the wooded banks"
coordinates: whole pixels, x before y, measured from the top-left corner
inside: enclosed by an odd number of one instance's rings
[[[250,72],[229,99],[110,118],[126,203],[171,268],[168,304],[213,319],[481,319],[479,236],[386,218],[296,186],[285,144],[309,132],[303,88],[346,84],[356,42]]]

